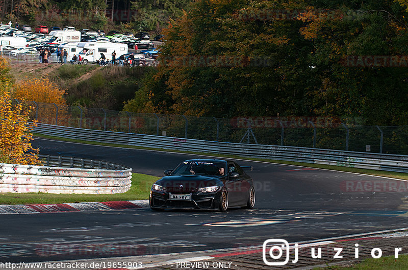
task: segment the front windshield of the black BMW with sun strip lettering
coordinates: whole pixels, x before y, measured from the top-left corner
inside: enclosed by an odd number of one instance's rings
[[[185,161],[177,166],[171,174],[178,175],[224,175],[225,163],[207,161]]]

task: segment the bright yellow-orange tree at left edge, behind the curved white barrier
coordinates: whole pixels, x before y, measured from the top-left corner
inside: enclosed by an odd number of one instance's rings
[[[0,162],[15,164],[38,164],[38,149],[31,145],[30,130],[36,125],[28,124],[31,107],[23,104],[13,106],[10,89],[12,81],[7,61],[0,57]]]

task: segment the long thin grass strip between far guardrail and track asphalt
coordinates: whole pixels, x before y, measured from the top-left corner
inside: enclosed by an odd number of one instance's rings
[[[190,152],[190,151],[177,151],[177,150],[163,149],[163,148],[148,148],[148,147],[141,147],[141,146],[125,145],[125,144],[101,143],[101,142],[93,142],[93,141],[85,141],[85,140],[67,139],[67,138],[56,137],[56,136],[48,136],[48,135],[42,135],[42,134],[38,134],[38,133],[33,133],[33,135],[35,137],[39,137],[39,138],[60,140],[60,141],[66,141],[66,142],[76,142],[76,143],[84,143],[84,144],[91,144],[91,145],[101,145],[101,146],[124,147],[124,148],[133,148],[133,149],[145,149],[145,150],[154,150],[154,151],[165,151],[165,152],[184,153],[184,154],[196,154],[196,155],[202,155],[202,156],[222,157],[222,158],[232,158],[232,159],[242,159],[242,160],[252,160],[252,161],[262,161],[262,162],[268,162],[268,163],[304,166],[304,167],[311,167],[311,168],[318,168],[318,169],[353,172],[353,173],[369,174],[369,175],[375,175],[375,176],[391,177],[391,178],[408,180],[408,174],[403,173],[403,172],[377,171],[377,170],[370,170],[370,169],[360,169],[360,168],[334,166],[334,165],[324,165],[324,164],[313,164],[313,163],[305,163],[305,162],[293,162],[293,161],[259,159],[259,158],[246,158],[246,157],[240,157],[240,156],[234,156],[234,155],[220,155],[220,154],[213,154],[213,153],[196,153],[196,152]]]

